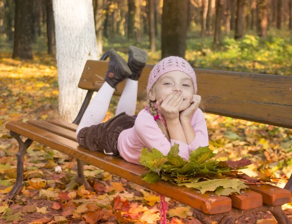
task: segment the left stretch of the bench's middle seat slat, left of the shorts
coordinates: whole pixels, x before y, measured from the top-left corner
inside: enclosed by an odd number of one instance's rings
[[[60,135],[64,138],[68,138],[74,142],[76,142],[76,134],[75,131],[71,131],[55,124],[48,123],[46,121],[28,121],[28,124],[40,128],[45,131],[50,131],[54,134]],[[70,123],[69,123],[70,124]]]

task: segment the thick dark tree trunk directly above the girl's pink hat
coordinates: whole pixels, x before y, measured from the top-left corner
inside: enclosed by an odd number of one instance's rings
[[[184,57],[187,34],[188,0],[164,0],[161,55]]]

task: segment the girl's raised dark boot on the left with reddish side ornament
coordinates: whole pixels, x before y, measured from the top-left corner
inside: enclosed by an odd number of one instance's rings
[[[112,88],[116,89],[117,85],[128,78],[132,72],[124,58],[118,55],[115,50],[110,49],[108,53],[110,62],[105,81],[109,83]]]

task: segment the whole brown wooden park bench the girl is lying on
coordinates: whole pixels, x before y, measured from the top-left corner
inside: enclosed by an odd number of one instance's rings
[[[100,77],[105,76],[108,67],[108,61],[104,61],[105,59],[104,55],[101,60],[87,61],[78,87],[88,90],[88,93],[73,123],[61,120],[6,123],[5,127],[19,144],[17,181],[10,195],[15,195],[23,184],[23,157],[26,149],[36,141],[76,158],[77,179],[86,187],[90,186],[85,181],[83,162],[195,208],[193,215],[203,224],[211,224],[212,221],[232,224],[243,215],[263,210],[271,211],[280,224],[291,223],[281,205],[291,202],[292,177],[285,186],[286,189],[272,185],[249,185],[251,190],[242,191],[240,195],[226,197],[217,196],[212,192],[202,195],[196,189],[178,187],[166,181],[148,184],[141,178],[141,174],[145,173],[144,167],[81,148],[76,142],[75,131],[89,105],[92,93],[100,88],[96,81],[102,81]],[[139,99],[144,97],[152,68],[153,66],[146,65],[143,70],[139,80]],[[204,100],[204,112],[292,128],[292,77],[200,69],[195,69],[195,72],[198,94]],[[114,94],[121,95],[124,86],[125,82],[121,83]],[[20,135],[28,139],[23,142]]]

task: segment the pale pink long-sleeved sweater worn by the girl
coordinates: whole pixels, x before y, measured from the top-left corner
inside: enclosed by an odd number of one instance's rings
[[[169,142],[153,116],[144,109],[139,112],[134,127],[120,133],[118,150],[126,161],[140,165],[139,157],[141,156],[142,148],[155,148],[167,155],[174,143],[177,143],[180,145],[179,155],[188,160],[192,150],[198,149],[200,146],[209,145],[207,126],[204,114],[200,109],[196,110],[192,115],[191,124],[196,137],[190,145],[173,139],[170,139]]]

